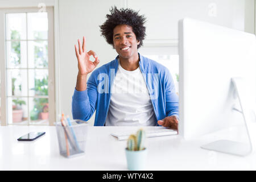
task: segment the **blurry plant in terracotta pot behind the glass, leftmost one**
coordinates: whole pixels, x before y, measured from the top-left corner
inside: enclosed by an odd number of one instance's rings
[[[26,105],[26,102],[23,100],[14,99],[13,100],[13,122],[18,123],[22,122],[22,117],[23,117],[23,110],[22,110],[22,105]]]

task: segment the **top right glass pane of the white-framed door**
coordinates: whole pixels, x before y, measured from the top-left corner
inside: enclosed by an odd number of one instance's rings
[[[28,40],[48,39],[47,13],[27,13]]]

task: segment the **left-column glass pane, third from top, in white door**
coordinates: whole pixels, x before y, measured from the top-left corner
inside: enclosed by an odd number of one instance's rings
[[[7,96],[27,96],[26,69],[7,69]]]

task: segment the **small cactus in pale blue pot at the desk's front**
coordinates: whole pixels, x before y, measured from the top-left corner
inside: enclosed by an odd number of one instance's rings
[[[146,164],[147,148],[144,147],[146,133],[139,129],[136,135],[127,139],[126,160],[129,170],[143,170]]]

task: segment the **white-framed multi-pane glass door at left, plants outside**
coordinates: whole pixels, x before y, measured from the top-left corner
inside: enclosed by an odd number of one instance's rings
[[[15,9],[2,14],[5,69],[1,71],[6,76],[2,78],[6,80],[5,93],[1,95],[6,104],[6,112],[2,112],[6,121],[2,125],[53,125],[53,9]]]

